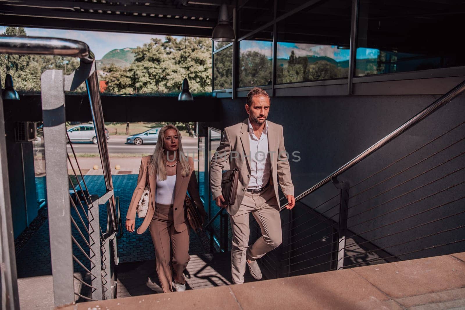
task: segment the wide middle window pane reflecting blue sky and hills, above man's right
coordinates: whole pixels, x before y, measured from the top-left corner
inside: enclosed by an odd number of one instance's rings
[[[351,7],[330,0],[278,22],[277,84],[347,77]]]

